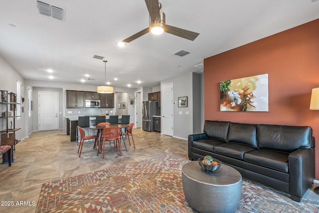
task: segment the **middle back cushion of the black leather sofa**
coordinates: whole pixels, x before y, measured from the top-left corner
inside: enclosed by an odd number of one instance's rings
[[[257,147],[257,124],[230,123],[227,142]]]

